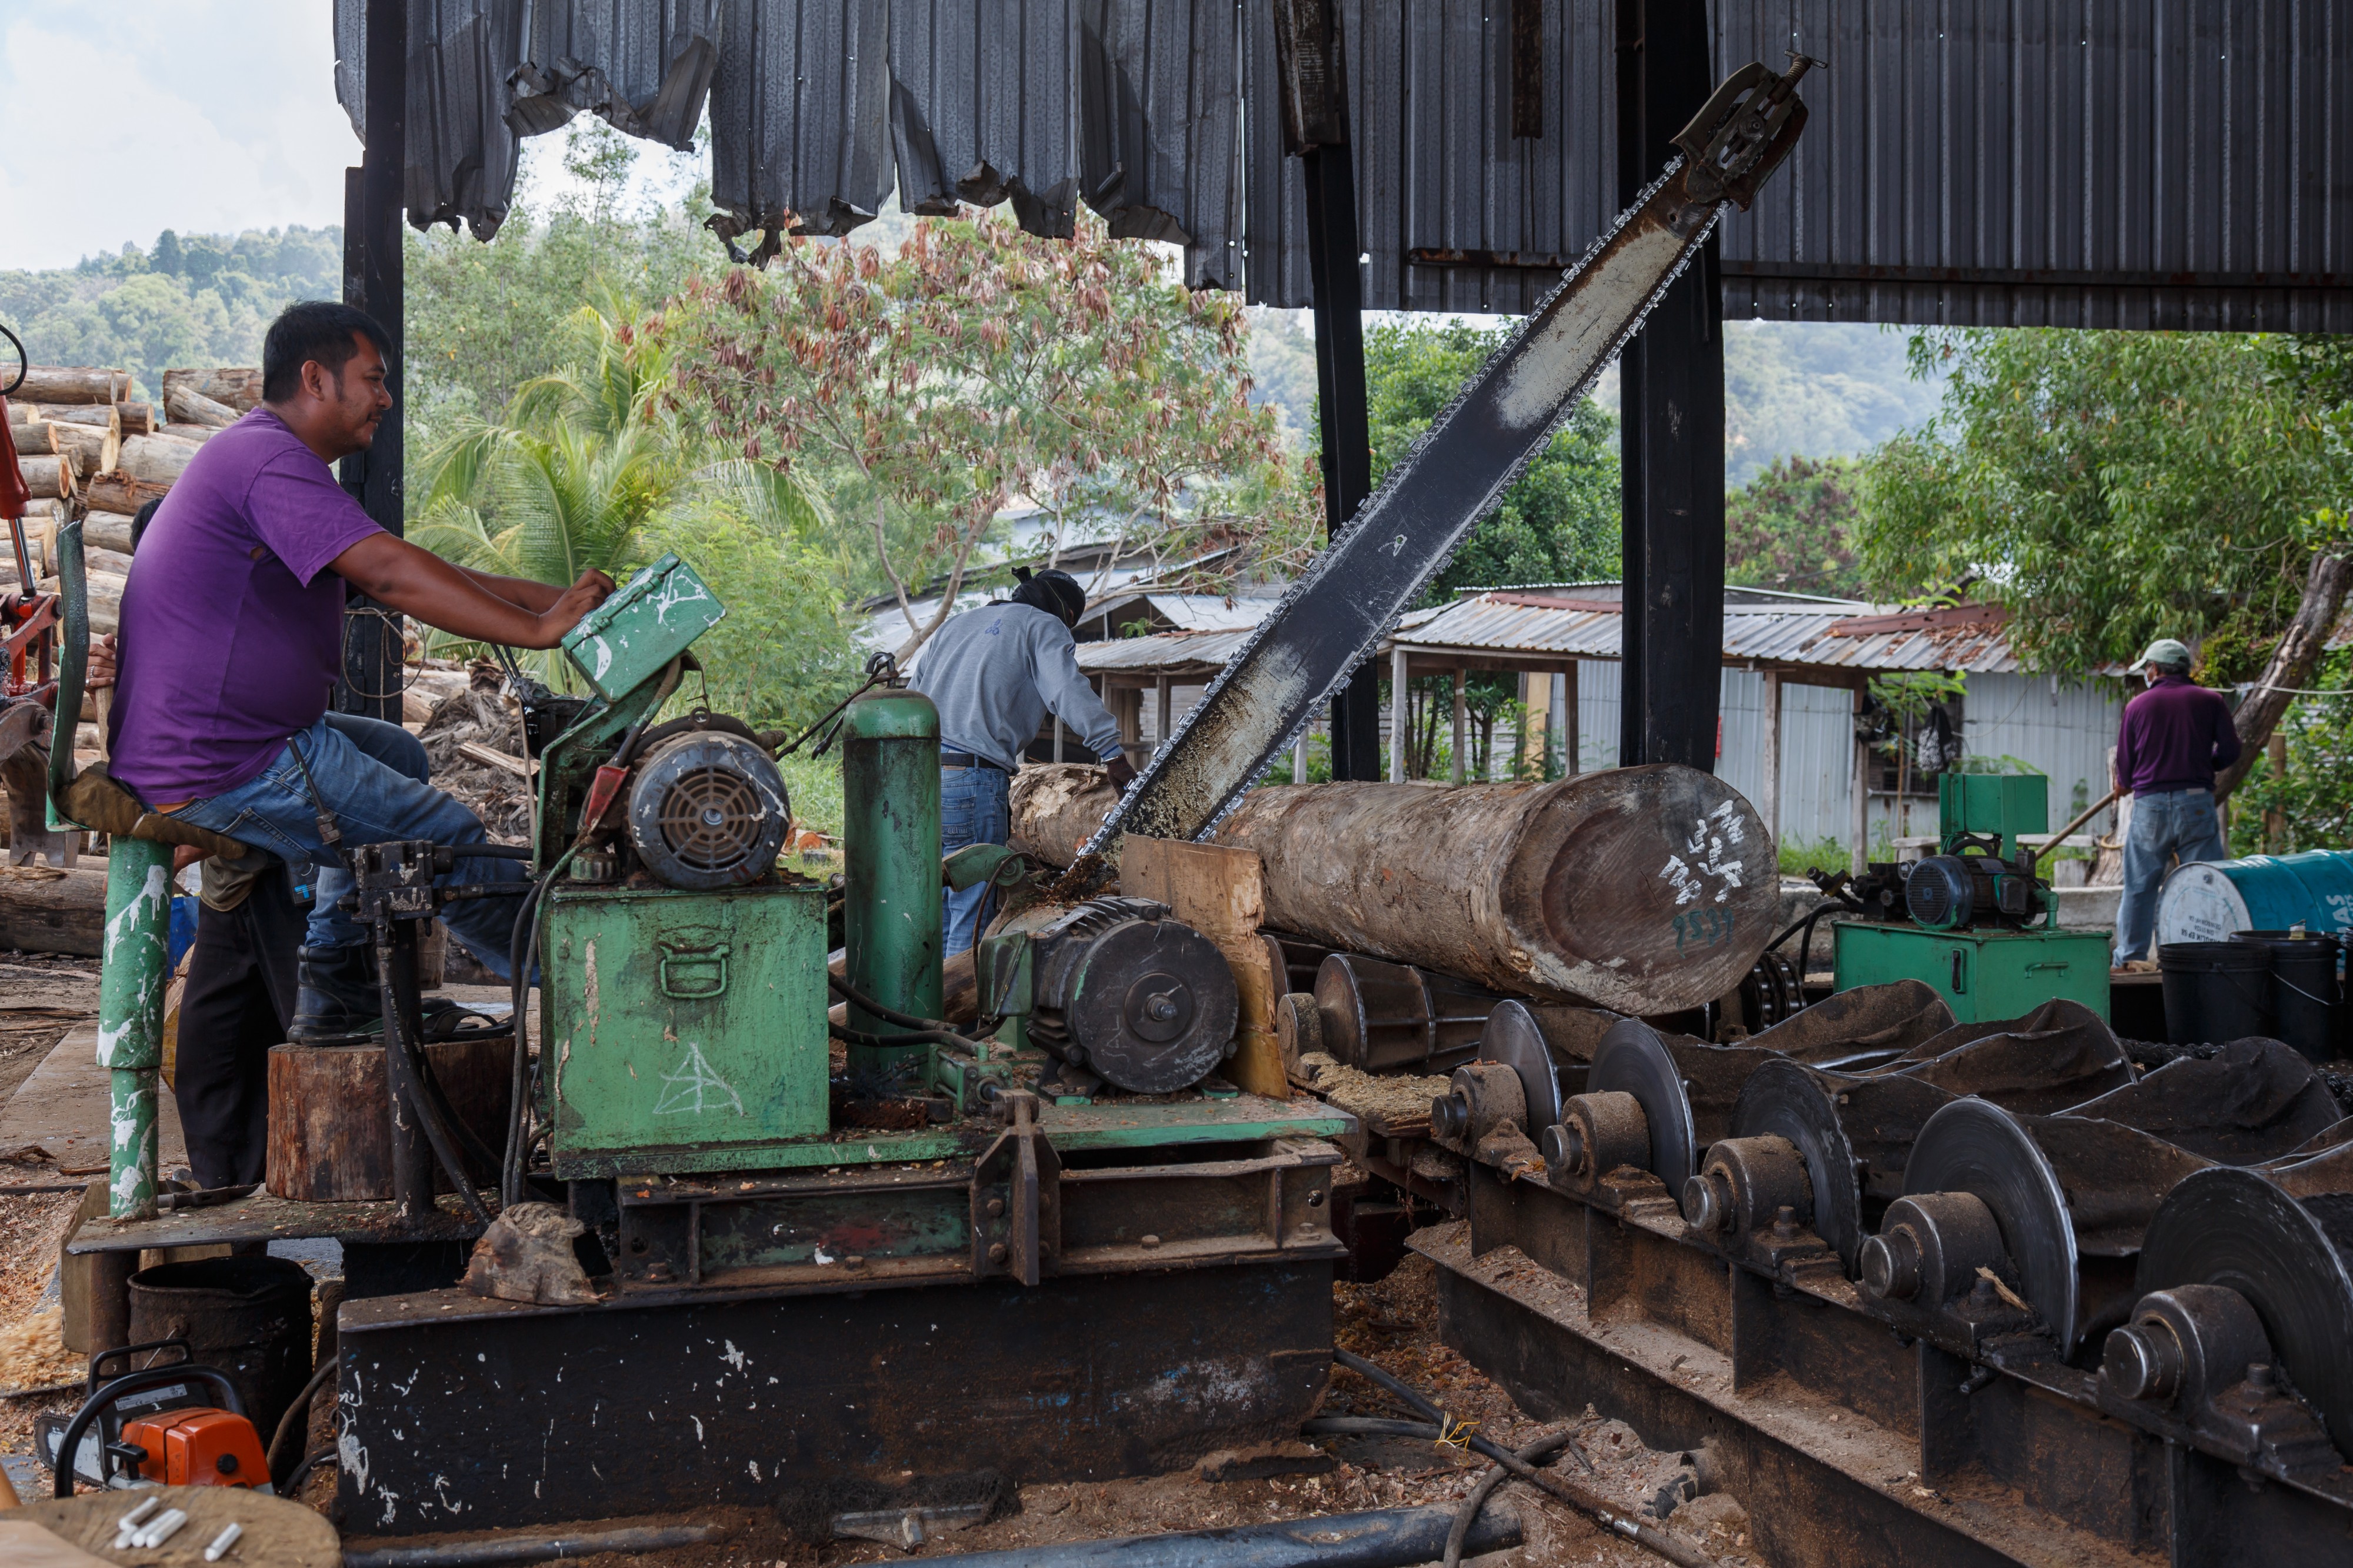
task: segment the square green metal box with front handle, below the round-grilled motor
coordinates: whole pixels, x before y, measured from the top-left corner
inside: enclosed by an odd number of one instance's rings
[[[558,1177],[746,1170],[826,1130],[824,888],[560,888],[539,954]]]

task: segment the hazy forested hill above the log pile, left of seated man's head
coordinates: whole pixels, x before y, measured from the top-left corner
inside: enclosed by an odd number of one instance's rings
[[[165,365],[259,365],[261,332],[278,311],[341,294],[339,226],[238,235],[165,228],[148,250],[125,245],[42,273],[0,271],[0,325],[24,339],[35,365],[115,365],[153,398]]]

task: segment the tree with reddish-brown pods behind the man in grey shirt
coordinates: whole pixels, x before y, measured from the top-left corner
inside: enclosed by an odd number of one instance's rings
[[[1240,306],[1179,287],[1158,252],[1092,219],[1073,240],[920,219],[889,257],[788,240],[767,271],[696,278],[647,330],[715,447],[814,469],[842,518],[842,584],[896,596],[901,657],[946,619],[1014,497],[1059,537],[1169,560],[1287,537],[1235,504],[1285,459],[1275,417],[1247,400]],[[939,610],[918,614],[934,584]]]

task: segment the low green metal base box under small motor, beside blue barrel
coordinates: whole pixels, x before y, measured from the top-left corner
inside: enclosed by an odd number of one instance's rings
[[[1962,1024],[2024,1017],[2052,998],[2108,1017],[2104,930],[1922,930],[1887,921],[1833,921],[1838,989],[1922,979]]]

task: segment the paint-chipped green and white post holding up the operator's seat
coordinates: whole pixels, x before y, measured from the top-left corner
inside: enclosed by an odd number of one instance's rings
[[[106,852],[99,968],[99,1067],[113,1081],[106,1212],[115,1220],[155,1217],[155,1097],[162,1092],[169,946],[172,845],[118,836]]]

